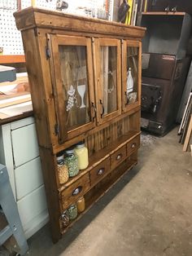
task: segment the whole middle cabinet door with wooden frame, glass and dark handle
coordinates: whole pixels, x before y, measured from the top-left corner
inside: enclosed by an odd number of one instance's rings
[[[94,40],[94,77],[99,123],[121,112],[120,40]]]

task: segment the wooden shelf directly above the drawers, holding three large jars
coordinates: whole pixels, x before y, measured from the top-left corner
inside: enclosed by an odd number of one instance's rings
[[[95,166],[98,166],[99,163],[107,159],[112,153],[116,152],[119,148],[123,147],[126,143],[129,143],[131,139],[134,139],[137,135],[140,135],[140,132],[130,130],[128,134],[121,136],[111,143],[106,148],[103,148],[102,152],[96,152],[89,161],[89,166],[85,170],[81,170],[79,174],[75,177],[72,177],[68,180],[67,183],[64,183],[59,188],[59,192],[62,192],[63,189],[68,188],[72,183],[76,182],[77,179],[80,179],[83,175],[92,170]]]

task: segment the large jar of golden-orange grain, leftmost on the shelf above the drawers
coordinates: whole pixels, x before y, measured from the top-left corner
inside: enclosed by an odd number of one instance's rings
[[[59,176],[59,183],[63,184],[68,181],[68,166],[65,165],[63,152],[59,152],[57,155],[57,169]]]

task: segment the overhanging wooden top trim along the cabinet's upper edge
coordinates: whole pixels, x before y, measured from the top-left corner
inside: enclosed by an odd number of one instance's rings
[[[76,15],[64,14],[37,7],[28,7],[14,13],[19,30],[31,28],[62,29],[74,32],[116,34],[124,37],[143,38],[145,28],[129,26],[107,20],[98,20]]]

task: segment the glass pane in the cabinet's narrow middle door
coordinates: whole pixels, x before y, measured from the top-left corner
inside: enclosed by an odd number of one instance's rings
[[[117,110],[116,54],[116,46],[100,47],[103,115]]]

